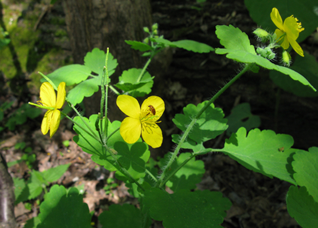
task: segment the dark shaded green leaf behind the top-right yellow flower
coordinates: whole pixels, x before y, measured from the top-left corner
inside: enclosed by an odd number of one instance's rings
[[[302,23],[302,27],[305,28],[299,34],[297,42],[302,42],[318,27],[316,0],[288,0],[288,2],[245,0],[244,2],[254,22],[268,29],[269,32],[274,32],[277,28],[270,18],[270,13],[274,7],[279,10],[283,22],[286,17],[294,15]]]

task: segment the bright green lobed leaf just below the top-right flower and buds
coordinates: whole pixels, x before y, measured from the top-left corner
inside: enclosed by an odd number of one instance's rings
[[[257,64],[269,70],[279,71],[283,74],[289,75],[293,80],[300,81],[305,86],[310,86],[314,91],[316,91],[316,89],[301,74],[287,67],[275,65],[268,59],[263,58],[260,55],[256,55],[254,47],[249,45],[250,42],[247,35],[238,28],[234,28],[231,25],[216,26],[215,34],[219,39],[221,39],[220,43],[226,47],[226,49],[217,48],[215,50],[216,54],[227,54],[227,58],[234,59],[241,63]],[[240,39],[236,39],[236,46],[235,43],[231,42],[231,36],[233,34],[239,35],[240,37]]]

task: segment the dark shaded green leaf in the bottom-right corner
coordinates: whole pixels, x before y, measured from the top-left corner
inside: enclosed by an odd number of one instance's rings
[[[318,221],[318,203],[303,186],[290,186],[286,197],[287,210],[303,228],[316,228]]]

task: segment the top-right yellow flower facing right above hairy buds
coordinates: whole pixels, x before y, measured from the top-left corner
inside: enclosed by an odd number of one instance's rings
[[[283,39],[283,43],[281,44],[281,46],[284,49],[287,49],[289,48],[290,44],[291,47],[295,50],[295,52],[297,52],[301,56],[304,56],[304,52],[301,46],[299,46],[299,44],[297,44],[296,42],[299,33],[304,30],[304,28],[302,28],[302,23],[297,23],[297,18],[294,18],[293,15],[291,15],[290,17],[287,17],[284,20],[283,24],[280,12],[276,8],[272,9],[272,12],[270,13],[270,18],[272,19],[273,23],[277,26],[277,28],[279,28],[275,30],[275,34],[277,36],[277,39]]]

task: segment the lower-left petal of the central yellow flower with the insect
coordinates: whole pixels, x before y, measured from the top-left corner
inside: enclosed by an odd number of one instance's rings
[[[120,128],[120,133],[125,142],[135,143],[141,135],[142,125],[140,119],[126,117]]]

